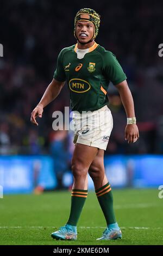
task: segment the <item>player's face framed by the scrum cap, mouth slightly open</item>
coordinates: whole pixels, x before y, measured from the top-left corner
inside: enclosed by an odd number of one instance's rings
[[[78,21],[76,35],[79,42],[86,43],[93,37],[94,27],[89,21]]]

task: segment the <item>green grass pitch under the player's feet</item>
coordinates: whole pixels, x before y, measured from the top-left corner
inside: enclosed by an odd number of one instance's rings
[[[67,221],[70,192],[0,199],[0,245],[163,245],[163,199],[158,190],[114,190],[122,240],[96,241],[105,220],[95,193],[89,192],[78,223],[77,241],[56,241],[51,233]]]

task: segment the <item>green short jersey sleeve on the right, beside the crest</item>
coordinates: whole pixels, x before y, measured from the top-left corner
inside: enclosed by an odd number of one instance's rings
[[[127,79],[127,76],[123,72],[120,63],[112,52],[105,52],[103,61],[104,73],[108,80],[111,81],[114,85]]]

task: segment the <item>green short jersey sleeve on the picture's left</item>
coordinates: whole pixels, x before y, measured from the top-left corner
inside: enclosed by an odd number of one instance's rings
[[[58,59],[57,59],[57,68],[54,72],[54,79],[60,82],[64,82],[66,80],[65,70],[62,65],[62,51],[59,53]]]

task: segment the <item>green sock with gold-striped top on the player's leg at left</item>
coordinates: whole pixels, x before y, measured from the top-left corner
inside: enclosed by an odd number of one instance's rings
[[[71,193],[71,211],[67,224],[76,226],[82,212],[85,200],[87,198],[87,190],[72,190]]]

